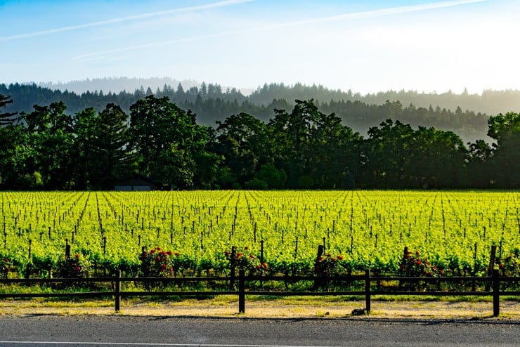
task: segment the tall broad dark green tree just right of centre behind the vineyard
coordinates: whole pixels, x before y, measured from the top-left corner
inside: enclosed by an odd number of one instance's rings
[[[291,113],[275,110],[271,128],[275,165],[287,173],[289,188],[346,188],[357,166],[358,134],[313,100],[296,100]]]

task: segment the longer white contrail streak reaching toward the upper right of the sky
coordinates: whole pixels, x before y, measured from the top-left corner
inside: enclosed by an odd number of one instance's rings
[[[100,58],[103,58],[105,55],[109,55],[112,53],[121,53],[124,51],[134,51],[142,48],[152,48],[157,46],[167,46],[172,44],[180,44],[183,42],[190,42],[190,41],[199,41],[203,39],[212,39],[215,37],[226,37],[233,34],[244,34],[248,32],[261,32],[264,30],[273,30],[278,29],[281,27],[294,27],[298,25],[310,25],[310,24],[317,24],[317,23],[325,23],[325,22],[339,22],[339,21],[345,21],[345,20],[359,20],[364,18],[375,18],[375,17],[382,17],[386,15],[397,15],[401,13],[409,13],[409,12],[417,12],[417,11],[429,11],[434,10],[437,8],[446,8],[451,6],[460,6],[460,5],[466,5],[466,4],[474,4],[478,2],[483,2],[487,0],[457,0],[457,1],[440,1],[435,3],[429,3],[429,4],[421,4],[421,5],[412,5],[412,6],[399,6],[399,7],[393,7],[393,8],[382,8],[380,10],[373,10],[373,11],[362,11],[362,12],[354,12],[354,13],[344,13],[341,15],[332,15],[327,17],[320,17],[320,18],[310,18],[306,20],[295,20],[292,22],[283,22],[283,23],[275,23],[270,25],[264,25],[259,27],[250,27],[250,28],[240,28],[238,30],[230,30],[226,32],[218,32],[214,34],[206,34],[206,35],[200,35],[196,37],[186,37],[182,39],[174,39],[169,41],[158,41],[151,44],[142,44],[142,45],[136,45],[136,46],[128,46],[123,48],[117,48],[112,49],[109,51],[98,51],[93,53],[86,53],[83,55],[78,55],[75,57],[75,59],[88,61],[88,60],[97,60]]]

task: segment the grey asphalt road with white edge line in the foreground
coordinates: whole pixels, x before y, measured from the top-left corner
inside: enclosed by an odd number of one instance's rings
[[[520,346],[520,322],[0,315],[0,346]]]

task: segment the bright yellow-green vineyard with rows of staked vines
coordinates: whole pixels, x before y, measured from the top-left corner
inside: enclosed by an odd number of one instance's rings
[[[496,266],[519,273],[520,194],[513,191],[0,195],[0,259],[20,277],[27,269],[56,275],[67,245],[78,264],[126,275],[138,275],[143,250],[157,247],[174,259],[173,275],[226,273],[233,246],[270,273],[312,273],[323,246],[345,272],[397,273],[408,247],[440,273],[484,275],[495,245]]]

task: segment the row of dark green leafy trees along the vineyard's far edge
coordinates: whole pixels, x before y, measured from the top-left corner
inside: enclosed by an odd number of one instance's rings
[[[0,107],[13,103],[0,95]],[[379,105],[399,109],[399,103]],[[520,115],[488,118],[464,145],[453,131],[391,117],[367,136],[312,99],[197,123],[167,96],[67,114],[63,101],[0,114],[0,185],[9,190],[113,189],[147,177],[173,189],[519,188]]]

